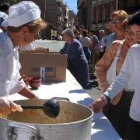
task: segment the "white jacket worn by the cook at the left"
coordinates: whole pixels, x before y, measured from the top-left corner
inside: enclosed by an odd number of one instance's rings
[[[0,97],[18,93],[25,83],[20,78],[18,48],[13,47],[7,33],[0,33]]]

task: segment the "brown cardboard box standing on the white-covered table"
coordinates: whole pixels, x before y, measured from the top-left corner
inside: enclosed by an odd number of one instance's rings
[[[44,75],[46,82],[65,82],[67,56],[60,53],[32,53],[20,52],[21,75],[28,74],[32,77]],[[40,67],[45,67],[41,71]]]

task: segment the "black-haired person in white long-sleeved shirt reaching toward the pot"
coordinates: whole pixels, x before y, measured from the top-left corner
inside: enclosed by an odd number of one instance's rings
[[[140,11],[133,14],[128,21],[132,33],[138,44],[133,45],[127,53],[126,59],[115,81],[106,92],[92,103],[91,108],[98,113],[107,102],[110,102],[132,79],[134,84],[134,96],[131,102],[129,119],[127,120],[125,140],[140,139]]]

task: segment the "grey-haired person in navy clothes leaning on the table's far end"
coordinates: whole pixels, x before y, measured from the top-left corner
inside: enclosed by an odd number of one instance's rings
[[[83,88],[88,88],[90,80],[89,66],[83,47],[74,38],[74,33],[71,29],[65,29],[62,35],[66,43],[60,52],[68,56],[68,69]]]

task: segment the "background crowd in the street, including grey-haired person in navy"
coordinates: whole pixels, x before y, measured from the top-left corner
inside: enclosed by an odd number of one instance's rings
[[[84,89],[91,88],[91,69],[102,58],[110,31],[111,27],[100,30],[99,38],[93,29],[87,31],[83,25],[62,32],[66,43],[60,52],[68,56],[68,69]]]

